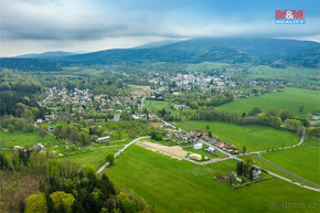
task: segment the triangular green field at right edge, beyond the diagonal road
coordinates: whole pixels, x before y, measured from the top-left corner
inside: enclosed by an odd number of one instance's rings
[[[320,184],[320,139],[308,139],[301,147],[268,152],[263,155],[267,160]]]

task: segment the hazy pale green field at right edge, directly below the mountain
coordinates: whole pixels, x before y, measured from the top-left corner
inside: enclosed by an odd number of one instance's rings
[[[248,78],[281,79],[319,85],[318,68],[273,68],[266,65],[252,66],[247,71]]]

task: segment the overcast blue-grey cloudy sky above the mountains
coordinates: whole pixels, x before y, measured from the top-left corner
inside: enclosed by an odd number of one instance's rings
[[[320,41],[317,0],[0,0],[0,56],[93,52],[166,40],[264,36]],[[306,10],[306,24],[275,24]]]

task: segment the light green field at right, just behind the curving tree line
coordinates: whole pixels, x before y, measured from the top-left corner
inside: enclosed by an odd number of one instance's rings
[[[299,114],[299,107],[303,105],[303,113]],[[264,110],[271,108],[286,109],[294,115],[307,115],[317,107],[320,107],[320,92],[302,88],[286,87],[280,93],[268,93],[259,97],[236,98],[232,103],[221,105],[221,108],[228,113],[248,113],[252,107],[257,106]]]

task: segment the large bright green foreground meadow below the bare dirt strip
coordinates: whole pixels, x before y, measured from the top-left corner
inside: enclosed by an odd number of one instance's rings
[[[106,170],[118,185],[143,196],[163,212],[318,212],[319,193],[273,178],[232,190],[213,180],[217,170],[234,170],[236,161],[209,166],[179,161],[138,146],[131,146]],[[286,203],[316,203],[317,209],[284,209]],[[275,210],[270,204],[279,204]]]

